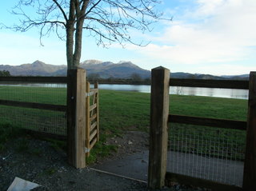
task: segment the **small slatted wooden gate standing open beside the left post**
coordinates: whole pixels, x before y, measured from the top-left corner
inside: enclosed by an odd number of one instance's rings
[[[86,157],[90,156],[98,136],[98,83],[90,90],[90,83],[86,82]]]

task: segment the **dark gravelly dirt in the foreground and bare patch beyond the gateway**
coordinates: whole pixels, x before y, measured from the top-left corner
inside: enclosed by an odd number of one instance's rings
[[[148,134],[128,131],[122,137],[112,137],[106,144],[118,145],[118,151],[97,163],[121,159],[148,149]],[[49,141],[19,137],[9,141],[0,153],[0,190],[7,190],[14,177],[32,181],[42,187],[34,190],[147,190],[146,183],[98,173],[90,166],[75,169],[66,162],[66,152]],[[162,190],[198,190],[182,185]],[[200,189],[202,190],[202,189]]]

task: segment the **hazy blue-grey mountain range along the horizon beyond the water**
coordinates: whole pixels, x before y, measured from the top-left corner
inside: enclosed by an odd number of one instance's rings
[[[86,69],[88,76],[97,75],[97,78],[131,78],[137,74],[140,78],[150,78],[150,70],[144,70],[132,62],[101,62],[86,60],[80,64]],[[0,70],[8,70],[12,76],[66,76],[66,66],[49,65],[41,61],[20,66],[0,65]],[[239,79],[247,80],[249,74],[238,76],[214,76],[210,74],[171,73],[171,78],[196,78],[196,79]]]

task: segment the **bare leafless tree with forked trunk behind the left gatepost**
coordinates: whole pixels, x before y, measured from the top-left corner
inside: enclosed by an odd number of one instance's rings
[[[38,27],[42,37],[56,32],[66,40],[68,68],[77,67],[82,50],[82,32],[94,36],[98,45],[134,42],[130,30],[150,29],[150,24],[162,19],[155,10],[161,0],[19,0],[12,10],[19,24],[9,28],[26,32]],[[66,33],[64,32],[66,31]],[[64,32],[64,33],[63,33]]]

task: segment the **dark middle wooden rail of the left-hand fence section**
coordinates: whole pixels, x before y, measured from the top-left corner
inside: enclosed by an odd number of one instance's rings
[[[31,108],[31,109],[46,109],[46,110],[66,112],[66,105],[51,105],[51,104],[44,104],[44,103],[10,101],[10,100],[0,100],[0,105],[25,107],[25,108]]]

